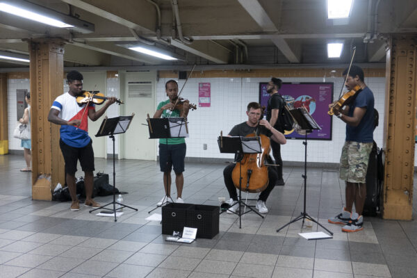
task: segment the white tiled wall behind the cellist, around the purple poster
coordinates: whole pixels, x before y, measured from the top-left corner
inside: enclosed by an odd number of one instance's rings
[[[166,99],[165,82],[160,79],[157,85],[157,102]],[[220,154],[217,138],[220,131],[229,133],[235,124],[247,120],[246,106],[250,101],[259,101],[259,82],[268,82],[269,78],[207,78],[189,79],[181,96],[197,104],[197,111],[190,111],[190,138],[187,142],[188,157],[202,158],[233,158],[231,154]],[[284,82],[322,82],[322,78],[282,78]],[[327,78],[327,82],[334,82],[334,99],[338,99],[343,80]],[[211,83],[211,107],[198,107],[198,83]],[[380,125],[374,133],[378,146],[382,146],[382,132],[384,119],[384,88],[385,78],[367,78],[366,84],[375,95],[375,108],[379,111]],[[179,88],[184,81],[179,81]],[[332,140],[310,140],[307,147],[309,162],[338,163],[341,148],[345,140],[345,124],[338,118],[333,118]],[[207,144],[207,149],[203,145]],[[284,161],[304,161],[304,145],[302,140],[288,140],[281,147]]]

